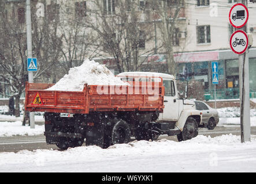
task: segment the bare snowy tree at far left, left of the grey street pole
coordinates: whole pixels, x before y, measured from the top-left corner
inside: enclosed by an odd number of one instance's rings
[[[9,13],[8,11],[9,10]],[[5,2],[0,3],[0,74],[1,81],[10,88],[9,97],[15,97],[15,114],[20,116],[19,101],[24,91],[27,73],[25,72],[25,51],[27,44],[24,34],[24,22],[17,18],[15,7],[7,6]],[[6,95],[3,93],[3,95]]]

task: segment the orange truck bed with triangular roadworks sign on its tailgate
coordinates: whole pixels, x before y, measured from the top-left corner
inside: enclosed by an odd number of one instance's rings
[[[49,91],[54,84],[26,83],[25,110],[88,114],[104,111],[158,111],[164,109],[161,82],[129,82],[131,86],[84,85],[83,91]],[[153,87],[152,87],[153,86]],[[157,91],[152,94],[152,91]],[[100,93],[99,93],[100,92]]]

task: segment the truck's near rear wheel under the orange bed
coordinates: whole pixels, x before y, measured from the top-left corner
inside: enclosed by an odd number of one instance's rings
[[[111,134],[112,144],[122,144],[129,143],[131,140],[131,130],[127,122],[124,120],[118,121],[113,129]]]

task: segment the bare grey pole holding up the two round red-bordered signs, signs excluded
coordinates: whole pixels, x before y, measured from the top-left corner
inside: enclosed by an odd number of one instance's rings
[[[247,0],[240,0],[248,7]],[[247,24],[242,30],[247,33]],[[249,59],[248,49],[242,55],[239,55],[239,91],[240,91],[240,126],[241,142],[251,141],[250,126],[250,83],[249,83]]]

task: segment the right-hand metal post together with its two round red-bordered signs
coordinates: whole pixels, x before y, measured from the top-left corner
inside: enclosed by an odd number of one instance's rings
[[[236,30],[230,39],[232,51],[239,54],[239,91],[240,91],[240,126],[241,142],[251,141],[250,127],[250,85],[249,85],[249,60],[248,60],[248,36],[247,0],[240,0],[229,11],[229,21]],[[237,21],[239,20],[239,21]]]

